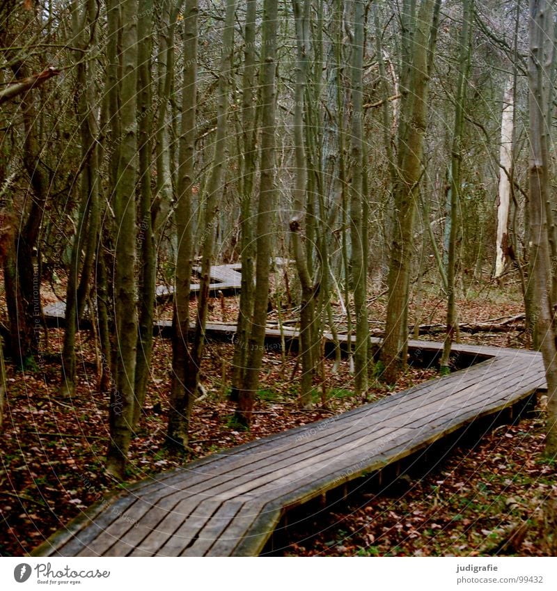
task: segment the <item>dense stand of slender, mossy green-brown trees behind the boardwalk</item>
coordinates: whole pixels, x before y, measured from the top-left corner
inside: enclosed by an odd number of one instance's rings
[[[359,400],[400,378],[433,296],[445,310],[439,371],[450,372],[457,301],[492,285],[518,294],[524,318],[503,305],[487,324],[524,322],[521,346],[544,354],[554,455],[552,10],[537,0],[3,1],[0,418],[6,365],[51,367],[46,297],[64,326],[50,337],[59,400],[72,400],[93,358],[108,473],[125,478],[154,384],[166,444],[191,449],[207,322],[225,308],[211,269],[241,263],[222,363],[230,429],[253,425],[266,392],[271,320],[299,328],[296,404],[326,407],[327,372],[341,365]],[[161,319],[171,332],[162,378]],[[347,358],[341,333],[354,336]]]

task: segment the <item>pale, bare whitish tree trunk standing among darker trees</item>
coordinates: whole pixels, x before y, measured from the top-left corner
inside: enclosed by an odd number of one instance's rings
[[[499,206],[497,208],[497,242],[495,259],[495,277],[501,277],[505,268],[507,250],[507,226],[510,206],[510,173],[512,168],[512,123],[515,111],[512,78],[509,79],[503,97],[503,115],[501,116],[501,152],[499,156]]]

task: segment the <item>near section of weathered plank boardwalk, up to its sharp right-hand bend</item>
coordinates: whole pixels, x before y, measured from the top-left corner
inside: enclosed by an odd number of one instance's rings
[[[228,327],[228,331],[233,327]],[[411,341],[410,354],[442,345]],[[161,473],[93,505],[36,556],[258,555],[281,518],[545,388],[540,354],[455,345],[475,365]]]

